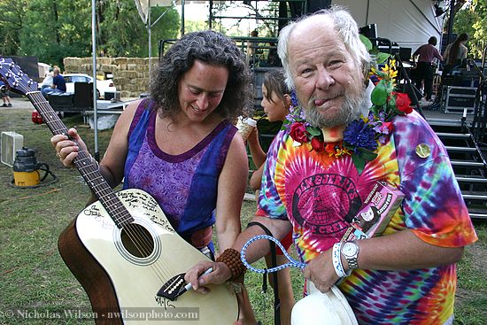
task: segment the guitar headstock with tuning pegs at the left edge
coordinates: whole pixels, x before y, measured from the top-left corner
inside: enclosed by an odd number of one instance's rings
[[[19,94],[26,95],[30,91],[37,90],[37,82],[33,81],[24,74],[12,58],[0,56],[0,80],[4,81],[8,89]]]

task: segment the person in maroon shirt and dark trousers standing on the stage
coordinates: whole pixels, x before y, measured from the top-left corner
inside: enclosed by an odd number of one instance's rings
[[[443,60],[440,52],[435,47],[437,45],[437,37],[429,37],[428,44],[421,45],[418,50],[413,53],[413,61],[415,64],[414,84],[417,89],[421,89],[421,84],[424,81],[424,96],[427,101],[431,100],[431,93],[433,92],[433,77],[435,74],[435,67],[433,66],[433,59],[437,58]],[[416,64],[416,57],[418,57]]]

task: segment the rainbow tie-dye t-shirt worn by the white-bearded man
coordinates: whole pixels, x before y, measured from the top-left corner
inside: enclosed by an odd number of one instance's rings
[[[417,112],[394,120],[393,135],[358,174],[350,156],[338,159],[294,143],[281,131],[267,153],[258,215],[286,220],[302,261],[338,242],[375,182],[405,197],[383,235],[410,228],[424,242],[460,247],[475,230],[444,145]],[[418,144],[430,154],[421,158]],[[359,324],[444,324],[453,313],[455,265],[405,271],[357,269],[339,284]]]

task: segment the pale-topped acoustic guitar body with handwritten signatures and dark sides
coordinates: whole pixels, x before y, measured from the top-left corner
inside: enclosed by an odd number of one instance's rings
[[[238,306],[228,284],[210,286],[205,295],[189,290],[176,301],[156,295],[171,277],[207,258],[176,234],[149,194],[122,190],[117,196],[135,219],[130,234],[117,228],[96,202],[78,215],[58,242],[66,265],[88,293],[97,324],[233,324]],[[126,236],[138,236],[135,242],[142,249],[133,247]],[[135,313],[148,318],[141,320]],[[164,319],[169,313],[193,314]],[[189,318],[194,315],[197,321]]]

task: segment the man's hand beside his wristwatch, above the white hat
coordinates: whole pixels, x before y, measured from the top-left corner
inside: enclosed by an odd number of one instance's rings
[[[340,279],[333,268],[332,251],[329,249],[312,259],[303,271],[305,278],[311,280],[321,292],[329,291]]]

